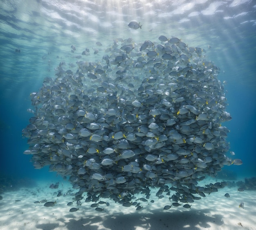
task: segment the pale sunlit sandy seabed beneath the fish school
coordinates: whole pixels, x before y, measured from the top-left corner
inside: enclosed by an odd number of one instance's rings
[[[56,181],[55,181],[56,182]],[[216,179],[202,181],[204,184],[215,183]],[[220,181],[219,181],[220,182]],[[82,200],[81,206],[76,202],[71,206],[72,196],[56,197],[57,191],[63,193],[73,190],[68,183],[60,183],[58,189],[50,189],[51,182],[38,182],[35,188],[21,188],[15,192],[1,194],[0,229],[1,230],[236,230],[256,229],[256,192],[238,192],[236,187],[222,188],[218,192],[192,203],[190,209],[171,207],[164,210],[165,205],[171,205],[169,196],[162,199],[155,197],[157,190],[151,191],[148,202],[140,202],[143,207],[136,210],[135,206],[124,207],[109,199],[98,212],[91,208],[92,202]],[[73,190],[76,192],[77,190]],[[224,196],[229,193],[230,198]],[[172,194],[171,194],[172,195]],[[86,198],[86,195],[84,195]],[[53,207],[45,207],[44,203],[35,201],[56,201]],[[154,203],[150,200],[154,199]],[[17,201],[20,200],[20,201]],[[244,202],[244,209],[239,204]],[[97,202],[96,202],[97,203]],[[79,208],[77,212],[69,212],[70,208]]]

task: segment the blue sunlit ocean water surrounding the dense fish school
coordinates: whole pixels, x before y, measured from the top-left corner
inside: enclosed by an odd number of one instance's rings
[[[175,36],[205,49],[208,60],[220,67],[232,120],[225,124],[228,141],[243,165],[225,166],[239,177],[256,176],[256,4],[230,1],[10,1],[0,7],[0,171],[20,178],[50,179],[47,167],[35,170],[24,155],[22,129],[33,109],[30,93],[38,92],[45,77],[54,78],[61,61],[76,63],[86,47],[101,60],[113,39],[158,41]],[[132,30],[128,23],[140,22]],[[96,42],[102,47],[97,47]],[[76,47],[73,54],[71,45]],[[20,52],[16,52],[20,49]],[[93,49],[99,49],[93,54]]]

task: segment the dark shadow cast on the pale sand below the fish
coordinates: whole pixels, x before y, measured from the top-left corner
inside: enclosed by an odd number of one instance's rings
[[[40,224],[36,228],[43,230],[51,230],[56,227],[63,227],[69,230],[97,230],[97,229],[122,229],[122,230],[135,230],[135,229],[198,229],[210,228],[211,223],[221,226],[223,224],[222,215],[208,216],[205,213],[210,213],[211,210],[175,210],[174,212],[163,212],[162,210],[153,210],[148,213],[131,213],[123,214],[116,212],[114,214],[105,216],[86,215],[79,220],[70,219],[64,222],[64,218],[58,219],[62,222],[59,226],[52,224]],[[67,214],[65,218],[75,218],[74,214]]]

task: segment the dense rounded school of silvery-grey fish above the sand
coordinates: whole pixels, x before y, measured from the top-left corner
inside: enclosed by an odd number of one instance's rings
[[[114,40],[102,60],[79,60],[76,71],[61,62],[56,78],[31,93],[24,153],[36,169],[49,165],[68,177],[76,201],[85,194],[86,201],[109,198],[130,207],[157,188],[157,198],[173,192],[171,205],[190,208],[225,185],[198,181],[242,163],[226,156],[229,130],[222,123],[231,116],[219,68],[204,59],[204,49],[175,37],[159,40]]]

